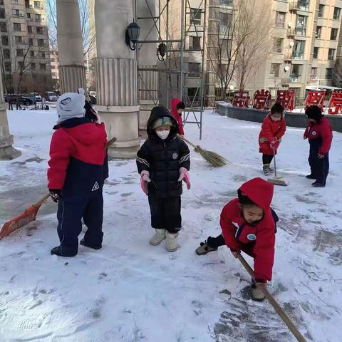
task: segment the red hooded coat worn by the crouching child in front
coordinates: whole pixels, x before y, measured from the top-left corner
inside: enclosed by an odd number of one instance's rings
[[[254,178],[244,183],[240,190],[264,210],[264,217],[256,226],[249,225],[238,206],[239,199],[233,199],[224,206],[221,213],[220,225],[224,241],[232,251],[244,251],[254,258],[257,281],[270,281],[275,244],[275,223],[270,208],[273,185],[261,178]]]

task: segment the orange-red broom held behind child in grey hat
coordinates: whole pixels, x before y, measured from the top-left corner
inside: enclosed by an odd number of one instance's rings
[[[110,145],[112,145],[115,141],[116,138],[110,139],[105,145],[105,148],[110,147]],[[50,194],[44,195],[43,197],[41,197],[41,199],[38,200],[38,202],[36,202],[36,204],[31,205],[30,207],[26,208],[23,213],[5,222],[0,227],[0,240],[14,232],[16,229],[24,227],[29,222],[35,221],[38,210],[46,202],[48,197],[50,197]]]

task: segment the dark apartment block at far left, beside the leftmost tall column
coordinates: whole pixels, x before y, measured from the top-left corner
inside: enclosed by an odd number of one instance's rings
[[[46,1],[0,0],[0,33],[6,90],[51,90]]]

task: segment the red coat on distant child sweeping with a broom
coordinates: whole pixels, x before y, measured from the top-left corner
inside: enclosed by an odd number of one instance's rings
[[[275,141],[274,138],[279,140],[285,134],[285,131],[286,123],[284,118],[279,121],[274,121],[271,119],[270,115],[267,115],[262,121],[261,131],[259,134],[259,152],[264,153],[264,155],[273,155],[273,147],[269,144],[270,142]],[[275,143],[275,150],[278,149],[279,143],[279,141]]]

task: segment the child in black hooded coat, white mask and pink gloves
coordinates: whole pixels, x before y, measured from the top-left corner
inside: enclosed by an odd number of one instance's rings
[[[152,109],[147,122],[148,138],[137,154],[141,187],[148,195],[151,225],[155,234],[150,239],[157,246],[166,239],[166,249],[177,249],[177,237],[182,227],[180,214],[182,180],[190,189],[190,151],[177,138],[178,124],[167,108]]]

